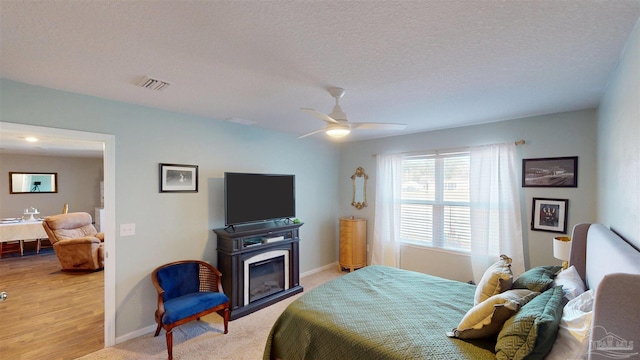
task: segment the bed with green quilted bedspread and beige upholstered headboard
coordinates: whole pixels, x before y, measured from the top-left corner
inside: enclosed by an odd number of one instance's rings
[[[572,233],[570,265],[586,289],[595,289],[589,357],[638,356],[640,345],[634,350],[632,341],[640,344],[640,339],[633,338],[640,334],[640,305],[636,300],[640,291],[640,252],[603,225],[579,224]],[[558,289],[562,293],[562,288]],[[552,292],[545,290],[541,294]],[[504,339],[504,328],[497,338],[460,339],[446,335],[475,308],[474,296],[475,285],[368,266],[292,302],[271,329],[264,359],[518,358],[496,352],[497,341]],[[535,299],[542,299],[542,295]],[[533,304],[534,300],[530,302]],[[510,313],[504,326],[514,326],[516,315],[524,313],[525,307],[522,309],[515,310],[513,316]],[[562,307],[555,316],[560,315]],[[557,333],[560,320],[556,320],[549,326],[555,327]],[[549,347],[556,346],[555,339],[554,334],[547,340],[551,341]],[[534,341],[538,347],[541,340]],[[547,351],[528,356],[542,358]]]

